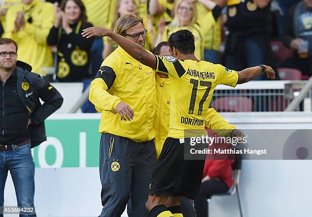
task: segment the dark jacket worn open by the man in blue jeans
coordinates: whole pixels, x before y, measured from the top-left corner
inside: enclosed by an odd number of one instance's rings
[[[31,70],[27,63],[17,61],[18,97],[32,120],[28,129],[33,148],[46,140],[44,120],[61,107],[63,98],[57,89]],[[44,102],[42,105],[39,98]]]

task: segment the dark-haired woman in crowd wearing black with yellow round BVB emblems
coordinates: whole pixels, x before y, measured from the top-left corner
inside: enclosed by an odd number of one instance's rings
[[[89,51],[92,40],[81,37],[83,29],[92,27],[87,21],[86,8],[81,0],[63,0],[56,5],[55,22],[47,37],[49,45],[57,46],[57,80],[82,82],[90,78]]]

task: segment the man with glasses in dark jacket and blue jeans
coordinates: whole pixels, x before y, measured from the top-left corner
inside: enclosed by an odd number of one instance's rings
[[[17,61],[16,53],[15,41],[0,39],[0,217],[8,211],[1,210],[8,171],[19,216],[33,217],[35,164],[31,148],[46,140],[44,119],[61,107],[63,98],[39,75],[31,73],[30,65]]]

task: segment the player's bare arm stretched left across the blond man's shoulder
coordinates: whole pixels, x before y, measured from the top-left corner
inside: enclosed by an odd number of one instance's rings
[[[125,52],[127,52],[130,56],[141,62],[142,64],[151,67],[152,69],[156,69],[157,60],[155,56],[149,52],[147,52],[142,46],[139,44],[126,39],[125,37],[114,33],[111,30],[100,28],[100,27],[90,27],[82,32],[82,36],[86,38],[91,37],[104,37],[109,36],[111,39],[116,41],[119,46],[122,47]]]

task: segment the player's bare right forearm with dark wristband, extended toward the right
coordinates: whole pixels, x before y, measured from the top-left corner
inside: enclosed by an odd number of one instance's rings
[[[237,84],[243,84],[248,81],[251,81],[255,77],[259,75],[263,75],[264,73],[267,74],[269,79],[275,79],[275,72],[270,66],[259,65],[259,66],[254,66],[251,68],[245,68],[242,71],[238,71],[239,80]]]

